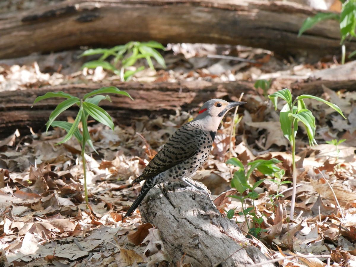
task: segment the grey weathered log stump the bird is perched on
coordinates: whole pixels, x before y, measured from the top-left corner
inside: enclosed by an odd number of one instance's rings
[[[199,187],[204,187],[199,183]],[[221,216],[210,195],[180,183],[152,188],[143,199],[143,221],[155,225],[169,257],[192,266],[248,266],[267,257]],[[263,265],[273,267],[272,263]]]

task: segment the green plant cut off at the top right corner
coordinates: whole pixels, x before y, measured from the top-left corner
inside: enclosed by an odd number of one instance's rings
[[[345,64],[345,45],[344,41],[348,36],[356,37],[355,28],[356,28],[356,0],[341,1],[341,14],[336,13],[318,13],[314,17],[308,17],[300,27],[298,37],[302,35],[303,32],[312,28],[316,23],[323,20],[337,20],[340,24],[340,34],[341,40],[340,45],[342,48],[342,59],[341,63]],[[350,39],[351,39],[350,38]],[[349,55],[349,58],[354,56],[356,51],[352,52]]]

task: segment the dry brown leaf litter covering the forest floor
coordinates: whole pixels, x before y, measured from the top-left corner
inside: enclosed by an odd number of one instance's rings
[[[101,68],[82,70],[87,59],[77,58],[81,52],[1,60],[0,91],[89,81],[97,82],[100,88],[102,82],[120,79]],[[216,54],[247,61],[208,57]],[[273,83],[274,78],[310,79],[314,71],[338,65],[333,58],[310,64],[305,58],[281,60],[262,49],[208,44],[172,44],[164,58],[167,69],[158,70],[158,65],[157,70],[146,68],[131,82],[272,79],[267,91],[271,94],[283,89]],[[135,68],[140,64],[144,62]],[[256,108],[253,112],[240,112],[239,108],[241,121],[232,138],[233,114],[226,115],[208,161],[192,177],[211,191],[222,214],[226,216],[227,211],[235,209],[232,219],[245,234],[249,227],[262,228],[260,240],[251,238],[251,243],[280,266],[356,266],[356,93],[324,88],[320,97],[337,104],[347,119],[325,104],[305,101],[316,118],[315,139],[319,145],[310,147],[300,127],[293,221],[286,220],[291,184],[279,187],[272,177],[258,171],[252,173],[249,182],[266,180],[256,188],[258,198],[254,202],[246,199],[242,206],[228,197],[236,194],[231,191],[230,181],[238,168],[225,161],[234,156],[245,166],[256,159],[276,158],[281,160],[277,165],[286,172],[282,180],[290,181],[292,177],[292,155],[280,129],[278,111],[261,89],[242,97],[246,105]],[[282,101],[278,103],[279,110],[283,105]],[[0,265],[168,266],[171,259],[156,229],[141,222],[139,210],[124,222],[122,216],[140,191],[140,184],[133,186],[131,182],[197,110],[177,110],[175,116],[155,119],[135,118],[131,126],[116,126],[114,132],[100,124],[90,126],[99,152],[97,155],[88,148],[90,209],[84,200],[80,146],[74,138],[55,145],[65,135],[55,128],[47,134],[33,132],[25,136],[16,131],[0,140]],[[337,147],[326,143],[333,139],[346,140]],[[274,198],[277,193],[283,196]],[[252,225],[251,214],[247,222],[239,215],[248,207],[254,207],[256,216],[263,219],[260,225]],[[140,262],[146,263],[136,265]]]

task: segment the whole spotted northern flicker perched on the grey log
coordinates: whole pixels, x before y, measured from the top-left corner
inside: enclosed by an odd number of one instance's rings
[[[148,191],[158,183],[180,180],[194,187],[185,178],[197,171],[208,159],[216,131],[227,111],[243,104],[246,102],[229,103],[222,99],[205,102],[198,116],[183,124],[148,163],[142,174],[132,182],[146,180],[140,194],[122,219],[130,216]]]

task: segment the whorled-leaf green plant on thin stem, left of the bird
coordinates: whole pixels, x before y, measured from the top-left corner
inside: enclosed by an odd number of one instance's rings
[[[98,153],[91,141],[89,130],[88,130],[88,117],[89,115],[93,117],[96,121],[103,123],[104,125],[110,127],[114,130],[114,123],[108,112],[103,110],[103,108],[99,107],[98,104],[101,100],[110,100],[108,95],[104,96],[101,94],[119,94],[125,95],[131,98],[129,94],[125,91],[121,91],[116,87],[102,87],[100,89],[94,90],[88,94],[85,94],[82,99],[69,95],[64,92],[48,92],[43,96],[38,96],[33,102],[35,105],[38,101],[52,98],[52,97],[64,97],[67,98],[63,102],[59,103],[58,106],[52,111],[49,115],[49,119],[46,123],[46,132],[50,126],[52,127],[60,127],[67,131],[67,135],[64,137],[62,141],[57,143],[56,145],[65,143],[73,136],[77,138],[79,144],[82,146],[82,151],[80,156],[83,161],[83,176],[84,176],[84,192],[85,192],[85,202],[88,205],[88,190],[87,190],[87,172],[86,172],[86,161],[85,161],[85,145],[88,144],[96,153]],[[132,98],[131,98],[132,99]],[[133,100],[133,99],[132,99]],[[33,106],[32,105],[32,106]],[[55,119],[61,114],[63,111],[67,110],[69,107],[77,105],[79,106],[79,111],[77,117],[74,120],[74,123],[69,123],[65,121],[55,121]],[[82,132],[80,132],[78,126],[79,122],[82,123]]]

